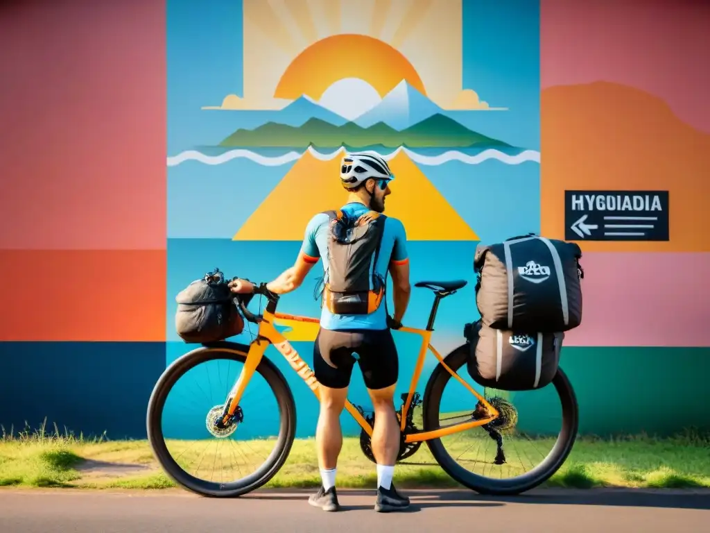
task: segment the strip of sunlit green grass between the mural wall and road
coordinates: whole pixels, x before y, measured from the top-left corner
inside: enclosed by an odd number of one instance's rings
[[[488,438],[480,440],[481,443],[488,441]],[[468,449],[478,442],[476,438],[464,438],[449,445],[444,439],[444,445],[452,456],[459,456],[459,450],[464,447]],[[223,467],[244,467],[250,453],[265,456],[273,446],[271,441],[241,444],[246,447],[232,453],[234,461],[229,454],[221,455],[226,457],[223,459],[225,463],[233,463]],[[521,463],[527,456],[529,450],[526,451],[523,444],[523,441],[513,438],[506,441],[509,464],[503,467],[504,474],[514,473],[516,463]],[[545,448],[546,452],[551,441],[539,439],[530,446]],[[672,438],[646,435],[579,437],[567,462],[543,486],[710,488],[709,449],[710,438],[694,432]],[[185,453],[180,461],[183,459],[186,463],[194,463],[197,456]],[[210,459],[206,464],[214,465],[215,462]],[[92,465],[99,467],[88,468]],[[212,465],[207,464],[207,468],[212,468]],[[490,465],[484,465],[484,468],[490,468]],[[374,465],[362,454],[359,439],[345,438],[339,458],[338,485],[344,488],[371,488],[375,481]],[[395,482],[402,488],[459,487],[434,463],[425,444],[414,456],[395,468]],[[319,484],[315,441],[307,438],[294,442],[288,461],[266,487],[307,488]],[[2,429],[0,486],[165,489],[175,484],[155,463],[147,441],[110,441],[105,435],[76,436],[66,430],[61,433],[57,427],[48,433],[41,427],[38,431],[24,429],[19,433],[13,429],[8,432]]]

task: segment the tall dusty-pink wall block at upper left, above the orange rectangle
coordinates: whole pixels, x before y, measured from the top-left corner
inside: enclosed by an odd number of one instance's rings
[[[0,249],[164,250],[165,2],[11,4]]]

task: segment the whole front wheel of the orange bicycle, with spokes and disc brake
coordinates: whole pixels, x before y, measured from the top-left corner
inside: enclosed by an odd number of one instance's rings
[[[288,457],[295,402],[283,374],[266,357],[231,424],[222,429],[214,424],[248,351],[235,343],[197,348],[175,360],[155,384],[148,402],[148,442],[165,473],[182,488],[203,496],[243,495],[273,478]]]

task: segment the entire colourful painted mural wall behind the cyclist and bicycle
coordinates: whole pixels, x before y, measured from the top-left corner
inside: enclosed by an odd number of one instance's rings
[[[710,295],[695,281],[710,264],[710,110],[695,68],[710,48],[705,8],[366,4],[77,3],[2,19],[4,48],[22,53],[0,59],[13,73],[0,114],[16,126],[0,132],[0,269],[42,280],[43,296],[9,286],[0,424],[46,416],[144,436],[155,379],[191,348],[175,335],[175,294],[214,266],[263,280],[289,266],[310,216],[344,202],[343,145],[389,159],[386,212],[408,230],[413,281],[472,282],[479,242],[564,239],[578,220],[566,190],[667,191],[667,240],[577,240],[584,323],[562,366],[583,432],[710,424]],[[20,29],[57,17],[83,31]],[[319,269],[281,311],[317,316]],[[415,289],[406,321],[423,325],[430,303]],[[469,283],[440,308],[439,351],[477,316]],[[308,332],[286,335],[310,362]],[[418,344],[407,337],[395,333],[402,388]],[[315,398],[267,353],[296,394],[299,436],[312,434]],[[357,373],[350,397],[366,404]]]

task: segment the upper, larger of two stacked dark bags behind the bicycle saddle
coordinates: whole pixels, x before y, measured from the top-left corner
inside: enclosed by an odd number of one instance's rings
[[[535,235],[479,244],[476,306],[484,325],[501,330],[554,333],[581,323],[577,244]]]

